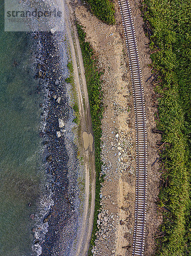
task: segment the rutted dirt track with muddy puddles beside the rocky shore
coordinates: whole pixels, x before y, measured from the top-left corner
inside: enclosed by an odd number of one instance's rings
[[[77,238],[77,252],[75,256],[84,256],[87,253],[94,217],[95,202],[95,160],[93,132],[84,74],[83,59],[80,44],[77,38],[77,31],[74,25],[73,4],[70,0],[60,0],[63,16],[65,17],[71,58],[74,67],[74,82],[78,95],[80,111],[80,136],[78,149],[83,157],[85,166],[85,202],[83,216],[81,219],[80,237]],[[68,8],[66,8],[66,4]],[[68,10],[69,9],[69,10]]]

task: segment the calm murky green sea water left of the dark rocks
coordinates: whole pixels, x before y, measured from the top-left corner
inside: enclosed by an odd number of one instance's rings
[[[30,214],[37,210],[40,198],[42,95],[35,90],[30,35],[3,29],[1,23],[0,256],[28,256],[35,224]]]

